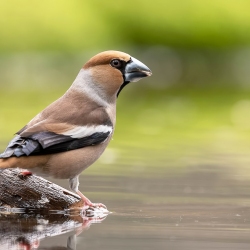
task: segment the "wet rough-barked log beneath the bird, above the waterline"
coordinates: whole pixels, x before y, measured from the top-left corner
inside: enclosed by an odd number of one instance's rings
[[[36,175],[20,176],[17,169],[0,171],[0,207],[40,210],[80,209],[80,198]]]

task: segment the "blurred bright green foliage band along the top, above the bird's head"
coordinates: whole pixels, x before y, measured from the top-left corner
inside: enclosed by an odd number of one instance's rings
[[[247,0],[0,2],[0,52],[250,42]]]

